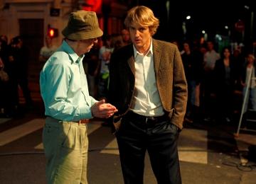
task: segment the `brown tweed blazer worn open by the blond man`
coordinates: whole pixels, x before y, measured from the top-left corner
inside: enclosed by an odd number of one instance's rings
[[[161,103],[171,123],[182,129],[188,91],[181,55],[176,45],[153,39],[153,56]],[[134,62],[132,44],[120,48],[111,56],[109,102],[118,109],[114,122],[127,113],[136,93]]]

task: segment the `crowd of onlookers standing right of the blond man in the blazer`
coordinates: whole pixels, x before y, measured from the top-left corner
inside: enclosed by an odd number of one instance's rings
[[[241,47],[223,47],[218,53],[213,40],[186,40],[180,45],[188,82],[186,122],[231,122],[242,108],[245,88],[249,87],[246,107],[255,110],[255,56]],[[245,112],[244,112],[245,113]]]

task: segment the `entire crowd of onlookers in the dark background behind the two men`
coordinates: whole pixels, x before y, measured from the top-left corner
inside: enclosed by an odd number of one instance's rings
[[[52,38],[46,36],[44,45],[38,57],[39,64],[43,65],[51,54],[57,50]],[[83,64],[87,74],[89,93],[97,99],[108,96],[109,65],[111,54],[120,47],[131,43],[129,31],[123,29],[120,34],[103,35],[92,50],[85,54]],[[236,92],[242,91],[245,96],[245,69],[252,60],[255,64],[253,52],[243,52],[238,48],[224,47],[221,53],[216,52],[218,45],[212,40],[197,41],[185,40],[174,42],[180,50],[183,66],[188,81],[188,105],[186,122],[201,118],[205,121],[218,120],[230,122],[234,113],[240,110],[237,104]],[[26,106],[31,107],[28,88],[28,57],[29,53],[23,45],[21,36],[11,39],[8,44],[6,36],[0,37],[0,108],[1,115],[12,116],[20,108],[18,91],[21,88],[26,100]],[[250,66],[251,64],[249,64]],[[254,78],[252,77],[252,81]],[[244,89],[242,89],[244,88]],[[249,88],[245,103],[254,107],[254,81]],[[235,104],[236,103],[236,104]],[[108,123],[104,123],[108,125]]]

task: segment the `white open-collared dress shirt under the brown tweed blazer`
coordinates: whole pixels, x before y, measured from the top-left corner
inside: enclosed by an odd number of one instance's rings
[[[156,87],[152,41],[149,52],[139,53],[134,47],[135,86],[131,110],[144,116],[161,116],[164,110]]]

